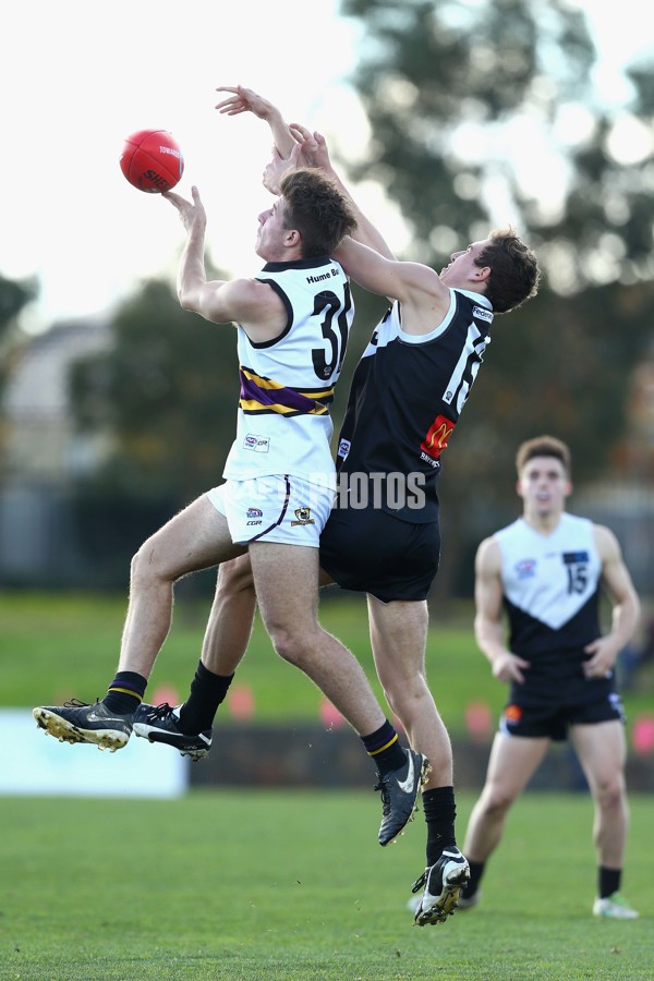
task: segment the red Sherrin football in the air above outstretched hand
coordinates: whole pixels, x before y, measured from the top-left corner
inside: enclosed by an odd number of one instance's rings
[[[120,169],[134,187],[161,194],[179,183],[184,158],[168,130],[138,130],[125,140]]]

